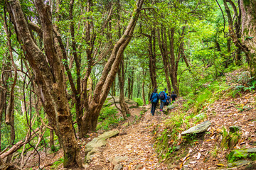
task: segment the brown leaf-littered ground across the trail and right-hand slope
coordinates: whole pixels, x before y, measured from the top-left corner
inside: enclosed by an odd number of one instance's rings
[[[233,83],[233,79],[241,74],[241,70],[225,74],[228,86],[237,86]],[[225,94],[230,91],[225,91]],[[188,122],[183,123],[179,127],[178,132],[178,151],[173,152],[174,156],[164,160],[171,162],[164,164],[158,159],[159,155],[156,154],[155,145],[156,137],[161,137],[161,132],[166,130],[166,120],[174,118],[176,115],[182,115],[186,120],[186,116],[193,115],[193,107],[188,111],[183,111],[182,98],[176,101],[176,108],[169,111],[168,115],[159,115],[159,108],[156,108],[156,114],[150,114],[151,106],[144,106],[143,108],[132,108],[131,123],[130,125],[119,125],[112,130],[119,130],[119,135],[107,139],[107,145],[100,147],[99,152],[93,154],[90,162],[85,164],[84,169],[102,170],[102,169],[121,169],[121,166],[115,166],[118,159],[122,165],[122,169],[223,169],[228,167],[227,155],[233,149],[242,148],[255,148],[256,147],[256,117],[255,117],[255,92],[241,92],[238,96],[231,97],[222,94],[218,100],[213,103],[205,103],[201,112],[206,114],[206,117],[195,123],[195,119],[191,118]],[[146,109],[145,109],[146,108]],[[146,112],[142,111],[145,110]],[[144,114],[141,115],[141,113]],[[198,113],[198,114],[199,114]],[[141,116],[141,118],[139,118]],[[136,118],[137,117],[137,118]],[[138,119],[139,118],[139,119]],[[201,137],[196,137],[190,143],[184,142],[180,137],[181,132],[188,128],[198,125],[203,121],[209,120],[211,125]],[[182,120],[181,120],[182,121]],[[240,127],[240,138],[238,144],[232,148],[225,148],[222,146],[223,130],[229,131],[230,126]],[[157,128],[156,128],[157,127]],[[90,142],[94,137],[97,137],[102,132],[89,134],[90,137],[80,140],[81,152],[84,153],[85,145]],[[173,144],[173,139],[169,137],[168,144],[171,148],[177,144]],[[164,151],[163,151],[164,152]],[[60,159],[62,150],[55,154],[51,160]],[[179,158],[176,156],[178,155]],[[85,158],[85,155],[82,155]],[[31,162],[37,162],[37,159],[32,159]],[[46,162],[46,160],[45,160]],[[53,169],[48,166],[46,169]],[[59,164],[55,169],[63,169]],[[235,169],[242,169],[240,166]]]

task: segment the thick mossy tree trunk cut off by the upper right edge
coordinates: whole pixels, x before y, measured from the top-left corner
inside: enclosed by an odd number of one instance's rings
[[[234,11],[233,18],[231,16],[228,3],[232,6]],[[255,60],[255,42],[256,42],[256,18],[255,18],[255,0],[239,0],[239,13],[232,0],[223,0],[225,12],[228,16],[228,26],[230,37],[232,38],[236,47],[245,52],[247,62],[249,63],[252,76],[256,75],[256,60]]]

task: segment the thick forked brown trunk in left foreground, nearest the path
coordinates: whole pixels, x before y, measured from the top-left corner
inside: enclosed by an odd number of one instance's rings
[[[65,93],[64,70],[60,61],[63,56],[58,53],[58,49],[56,49],[58,44],[54,42],[55,34],[51,21],[50,6],[45,5],[41,0],[36,0],[34,3],[42,24],[45,53],[33,41],[33,35],[31,35],[19,1],[6,1],[12,22],[17,30],[16,34],[21,38],[19,41],[27,54],[26,60],[28,60],[33,70],[41,101],[48,114],[49,121],[55,125],[55,132],[59,135],[63,145],[63,166],[82,167]]]

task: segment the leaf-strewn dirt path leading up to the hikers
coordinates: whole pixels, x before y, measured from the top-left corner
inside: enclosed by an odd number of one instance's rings
[[[123,169],[167,169],[166,165],[159,163],[154,152],[154,126],[161,121],[165,115],[150,114],[148,111],[142,115],[134,125],[122,130],[117,137],[107,140],[107,145],[102,147],[100,153],[92,159],[86,169],[113,169],[112,159],[114,157],[127,157],[120,162]]]

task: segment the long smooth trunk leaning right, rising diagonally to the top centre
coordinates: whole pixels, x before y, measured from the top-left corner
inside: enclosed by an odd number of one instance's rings
[[[96,129],[97,118],[100,115],[100,110],[107,98],[107,94],[110,92],[110,88],[114,81],[114,77],[117,74],[123,52],[132,38],[143,2],[144,0],[137,1],[137,6],[134,8],[134,12],[132,13],[132,17],[126,30],[124,31],[124,34],[115,43],[110,58],[105,64],[102,71],[102,77],[100,77],[100,81],[95,87],[94,96],[92,97],[92,101],[90,101],[89,108],[82,117],[84,123],[82,125],[84,134]]]

